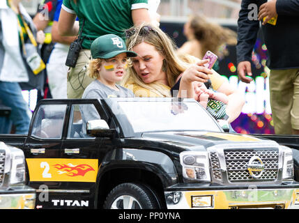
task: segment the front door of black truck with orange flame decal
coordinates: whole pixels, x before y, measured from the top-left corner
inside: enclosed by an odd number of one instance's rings
[[[99,102],[96,106],[100,106]],[[89,114],[84,115],[84,111]],[[102,139],[86,134],[87,119],[100,119],[105,116],[99,113],[101,112],[98,112],[91,100],[70,105],[68,130],[61,148],[61,162],[56,166],[63,177],[60,186],[65,192],[63,196],[65,199],[77,200],[79,204],[84,204],[82,208],[94,208],[96,178],[102,154],[105,153],[100,149]],[[58,208],[72,207],[58,203]]]

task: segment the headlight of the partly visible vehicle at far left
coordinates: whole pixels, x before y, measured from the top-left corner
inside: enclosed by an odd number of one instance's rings
[[[18,148],[13,148],[10,153],[11,171],[10,185],[20,184],[25,182],[25,157],[23,151]]]

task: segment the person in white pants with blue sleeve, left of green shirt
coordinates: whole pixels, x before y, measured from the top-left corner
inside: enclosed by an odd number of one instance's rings
[[[62,2],[63,0],[57,1],[57,6],[54,13],[52,24],[52,41],[55,43],[55,45],[47,63],[49,89],[53,98],[68,98],[66,78],[68,66],[66,66],[66,57],[68,56],[70,43],[77,38],[77,36],[59,35],[58,21]]]

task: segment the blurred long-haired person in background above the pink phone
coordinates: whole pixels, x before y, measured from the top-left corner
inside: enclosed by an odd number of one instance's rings
[[[231,29],[208,22],[205,17],[194,15],[184,25],[187,38],[179,49],[181,54],[190,54],[201,59],[208,50],[217,54],[218,58],[227,55],[226,45],[236,45],[236,33]]]

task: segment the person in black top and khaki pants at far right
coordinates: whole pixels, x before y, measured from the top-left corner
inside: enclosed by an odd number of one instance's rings
[[[259,7],[256,17],[251,5]],[[299,0],[243,0],[238,18],[238,77],[250,83],[252,50],[262,22],[270,68],[270,105],[275,134],[299,134]],[[248,75],[248,76],[246,76]]]

